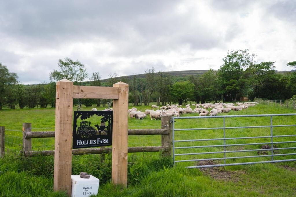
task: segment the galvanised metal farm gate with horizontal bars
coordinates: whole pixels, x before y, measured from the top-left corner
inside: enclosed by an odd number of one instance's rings
[[[296,161],[296,114],[173,117],[173,161],[187,168]]]

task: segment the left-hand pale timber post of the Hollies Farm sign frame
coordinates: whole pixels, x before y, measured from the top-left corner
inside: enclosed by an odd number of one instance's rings
[[[73,82],[62,79],[56,85],[54,140],[54,191],[71,196]]]

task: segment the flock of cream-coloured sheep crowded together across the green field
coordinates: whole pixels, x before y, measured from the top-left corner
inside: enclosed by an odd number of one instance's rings
[[[151,120],[153,118],[159,120],[159,118],[163,114],[170,114],[172,116],[180,116],[186,113],[196,113],[199,116],[214,116],[218,113],[228,113],[230,110],[239,111],[243,109],[247,109],[250,106],[255,106],[258,102],[237,102],[236,105],[234,103],[204,103],[204,104],[192,104],[195,106],[195,109],[192,110],[189,104],[182,108],[182,105],[166,105],[162,107],[158,107],[156,105],[152,105],[151,108],[147,109],[145,112],[138,111],[137,108],[131,108],[128,110],[128,114],[130,118],[136,118],[138,120],[143,120],[147,115],[150,116]],[[155,109],[155,110],[154,110]],[[211,109],[211,110],[210,110]],[[210,111],[209,111],[210,110]]]

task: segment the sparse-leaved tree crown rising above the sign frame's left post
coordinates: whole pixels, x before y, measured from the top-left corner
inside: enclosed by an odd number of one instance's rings
[[[77,85],[87,78],[86,68],[80,61],[73,61],[70,58],[65,60],[58,60],[59,71],[54,70],[49,74],[50,80],[59,81],[62,79],[68,79]]]

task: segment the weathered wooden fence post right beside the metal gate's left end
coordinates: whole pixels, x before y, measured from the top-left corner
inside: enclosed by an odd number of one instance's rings
[[[161,135],[161,146],[170,146],[168,152],[163,152],[163,157],[170,157],[172,152],[172,126],[171,126],[172,116],[169,114],[164,114],[161,116],[161,128],[168,129],[168,135]]]

